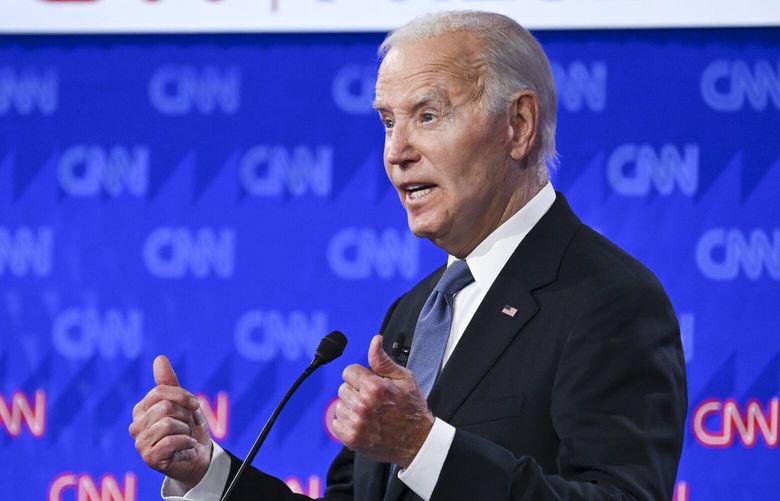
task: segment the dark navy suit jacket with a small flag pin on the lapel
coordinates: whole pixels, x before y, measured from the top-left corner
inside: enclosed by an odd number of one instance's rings
[[[413,333],[444,267],[389,309]],[[514,316],[502,312],[510,306]],[[456,428],[432,501],[671,499],[687,410],[672,306],[656,278],[558,194],[513,253],[428,403]],[[233,458],[231,478],[238,469]],[[413,501],[388,465],[344,448],[329,501]],[[252,470],[234,499],[300,500]]]

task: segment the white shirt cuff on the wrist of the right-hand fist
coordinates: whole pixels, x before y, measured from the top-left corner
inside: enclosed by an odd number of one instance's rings
[[[398,471],[398,478],[424,501],[430,501],[433,495],[454,438],[455,427],[436,418],[412,464]]]

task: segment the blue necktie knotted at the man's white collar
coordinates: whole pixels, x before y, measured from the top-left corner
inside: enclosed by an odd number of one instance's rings
[[[420,311],[406,367],[414,374],[426,398],[439,374],[444,349],[450,337],[455,294],[473,281],[466,261],[455,261],[444,270]]]

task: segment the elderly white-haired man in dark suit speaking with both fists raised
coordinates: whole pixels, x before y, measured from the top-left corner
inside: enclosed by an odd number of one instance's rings
[[[541,47],[504,16],[449,12],[380,54],[387,175],[412,232],[450,257],[390,307],[369,367],[344,371],[325,499],[669,499],[687,408],[677,322],[653,275],[548,181]],[[399,333],[407,367],[387,354]],[[136,447],[164,495],[218,498],[239,461],[164,357],[154,373]],[[303,496],[251,470],[235,499]]]

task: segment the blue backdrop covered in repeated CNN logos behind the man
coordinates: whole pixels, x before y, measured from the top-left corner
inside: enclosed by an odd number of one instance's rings
[[[780,30],[538,36],[556,189],[680,319],[677,499],[775,499]],[[0,498],[157,497],[127,427],[159,353],[244,455],[337,328],[255,461],[321,492],[342,369],[444,260],[384,177],[381,39],[0,37]]]

